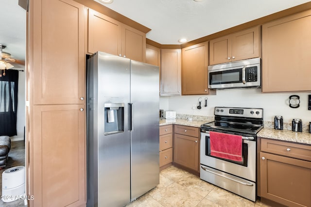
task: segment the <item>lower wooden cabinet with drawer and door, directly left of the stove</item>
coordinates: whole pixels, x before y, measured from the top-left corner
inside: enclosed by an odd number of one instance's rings
[[[175,125],[174,132],[173,162],[199,172],[199,128]]]

